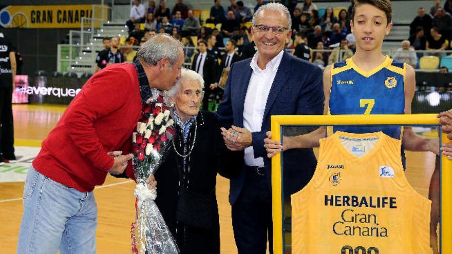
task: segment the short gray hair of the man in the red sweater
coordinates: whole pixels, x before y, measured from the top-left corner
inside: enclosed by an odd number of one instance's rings
[[[137,58],[148,65],[157,65],[163,58],[168,58],[173,66],[183,49],[181,42],[167,33],[158,33],[149,38],[138,50]]]

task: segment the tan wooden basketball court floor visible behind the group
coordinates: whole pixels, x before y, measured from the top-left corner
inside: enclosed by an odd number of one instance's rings
[[[61,118],[66,106],[13,105],[15,146],[40,146],[41,141]],[[407,152],[407,178],[423,196],[428,195],[434,169],[432,153]],[[0,169],[1,171],[1,169]],[[0,183],[0,253],[16,253],[22,219],[23,182]],[[135,219],[135,183],[108,176],[94,190],[98,204],[98,253],[130,253],[130,223]],[[237,253],[228,203],[229,180],[217,177],[220,213],[221,253]]]

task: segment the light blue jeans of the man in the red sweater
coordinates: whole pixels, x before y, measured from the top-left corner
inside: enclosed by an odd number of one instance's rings
[[[17,253],[96,253],[97,204],[80,192],[30,168],[24,188]]]

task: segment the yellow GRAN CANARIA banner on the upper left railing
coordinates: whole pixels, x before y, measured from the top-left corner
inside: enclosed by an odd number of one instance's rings
[[[0,26],[5,28],[80,28],[82,17],[93,17],[92,10],[93,5],[7,6],[0,10]],[[101,10],[106,9],[96,9],[98,18],[102,15]]]

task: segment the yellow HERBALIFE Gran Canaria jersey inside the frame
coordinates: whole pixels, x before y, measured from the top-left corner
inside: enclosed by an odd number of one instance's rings
[[[336,131],[291,196],[292,253],[430,254],[431,202],[408,183],[401,141]]]

